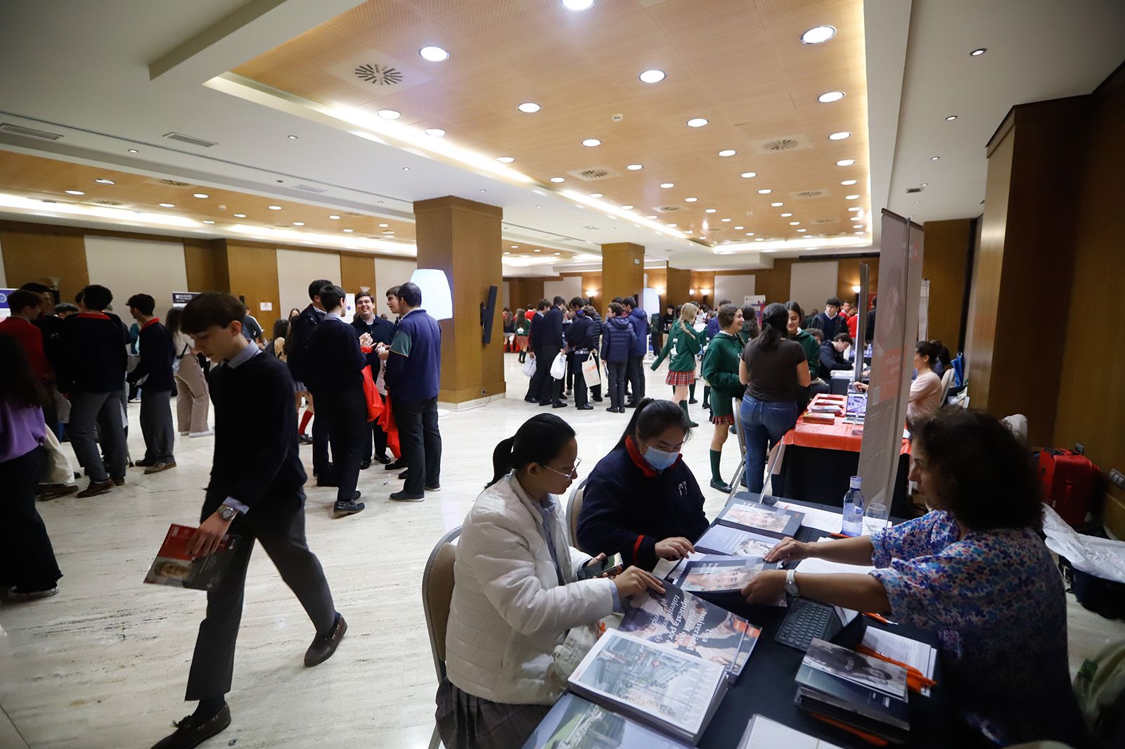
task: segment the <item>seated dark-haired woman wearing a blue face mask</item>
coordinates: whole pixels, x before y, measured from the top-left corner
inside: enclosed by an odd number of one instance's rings
[[[644,569],[695,550],[708,520],[703,493],[680,457],[690,435],[691,422],[676,404],[640,403],[616,446],[590,473],[578,515],[583,549],[620,552]]]

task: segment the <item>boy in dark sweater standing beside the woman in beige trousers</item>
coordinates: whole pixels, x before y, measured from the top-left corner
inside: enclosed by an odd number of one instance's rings
[[[144,435],[144,472],[159,473],[176,468],[172,454],[176,432],[172,428],[172,336],[152,313],[156,300],[147,294],[134,294],[125,303],[141,326],[137,346],[141,361],[129,372],[129,383],[141,387],[141,432]]]

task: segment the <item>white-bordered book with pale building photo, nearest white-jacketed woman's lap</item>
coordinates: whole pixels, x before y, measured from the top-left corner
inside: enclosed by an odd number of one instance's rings
[[[692,745],[727,689],[727,669],[610,630],[570,675],[570,689]]]

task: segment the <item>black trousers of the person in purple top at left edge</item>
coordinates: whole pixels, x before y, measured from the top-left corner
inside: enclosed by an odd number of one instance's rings
[[[46,451],[36,448],[0,463],[0,584],[21,590],[47,590],[63,576],[35,508],[35,493]]]

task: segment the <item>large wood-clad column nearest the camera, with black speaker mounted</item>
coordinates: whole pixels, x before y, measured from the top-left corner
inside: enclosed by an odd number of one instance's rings
[[[415,202],[414,217],[418,269],[444,271],[453,295],[453,317],[441,321],[438,400],[457,405],[504,392],[504,305],[500,298],[504,211],[447,196]],[[490,286],[497,289],[496,309],[492,342],[484,345],[480,304],[488,301]]]

